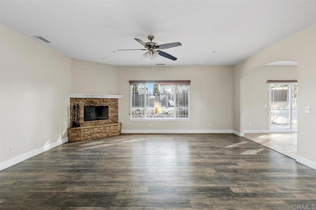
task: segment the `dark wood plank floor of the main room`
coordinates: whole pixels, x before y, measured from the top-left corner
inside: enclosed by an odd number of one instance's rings
[[[68,142],[0,171],[0,209],[292,210],[295,205],[316,208],[316,170],[233,134]]]

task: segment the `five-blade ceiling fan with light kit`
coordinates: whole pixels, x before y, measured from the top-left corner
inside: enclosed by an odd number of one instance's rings
[[[172,42],[172,43],[158,45],[156,42],[153,42],[153,40],[155,39],[155,36],[153,35],[148,36],[148,39],[150,40],[150,42],[144,42],[140,40],[139,38],[134,38],[134,39],[138,41],[139,43],[141,43],[145,48],[144,49],[124,49],[124,50],[148,50],[148,52],[143,54],[143,57],[141,59],[150,58],[151,60],[154,60],[155,58],[158,57],[158,55],[160,55],[162,57],[175,61],[177,60],[176,57],[166,52],[163,52],[161,50],[171,48],[171,47],[178,47],[182,45],[180,42]],[[118,51],[121,51],[121,50],[118,50]]]

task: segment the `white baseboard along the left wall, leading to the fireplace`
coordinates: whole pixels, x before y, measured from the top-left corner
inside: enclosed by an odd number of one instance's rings
[[[53,143],[44,145],[44,146],[42,146],[42,147],[40,147],[38,149],[34,149],[32,151],[29,151],[29,152],[24,153],[22,155],[19,155],[17,157],[11,158],[11,159],[6,160],[6,161],[3,161],[3,162],[0,163],[0,171],[3,170],[3,169],[8,168],[10,166],[13,166],[13,165],[15,165],[17,163],[20,163],[20,162],[22,162],[22,161],[24,161],[26,159],[34,157],[34,156],[36,156],[36,155],[38,155],[38,154],[40,154],[42,152],[45,152],[45,151],[47,151],[49,149],[52,149],[52,148],[54,148],[56,146],[59,146],[59,145],[61,145],[63,143],[66,143],[67,141],[68,141],[68,138],[65,138],[65,139],[62,139],[62,140],[58,140],[58,141],[55,141]]]

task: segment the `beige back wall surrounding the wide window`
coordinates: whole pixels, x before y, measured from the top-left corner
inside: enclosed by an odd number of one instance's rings
[[[191,80],[189,122],[129,121],[129,80]],[[232,67],[119,67],[122,130],[232,130]],[[149,123],[152,127],[149,127]],[[209,123],[212,127],[209,127]]]

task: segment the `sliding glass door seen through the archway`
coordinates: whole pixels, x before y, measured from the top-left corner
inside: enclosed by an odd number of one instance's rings
[[[270,131],[297,131],[297,83],[270,84]]]

